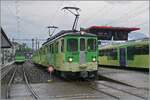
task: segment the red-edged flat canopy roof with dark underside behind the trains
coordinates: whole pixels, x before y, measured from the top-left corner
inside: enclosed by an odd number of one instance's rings
[[[84,31],[95,34],[100,40],[128,40],[128,33],[140,28],[112,27],[112,26],[91,26]]]

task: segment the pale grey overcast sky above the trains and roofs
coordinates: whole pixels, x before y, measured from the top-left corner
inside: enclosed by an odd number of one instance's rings
[[[71,29],[74,16],[64,6],[81,9],[79,27],[139,27],[149,35],[149,1],[1,1],[1,25],[10,39],[48,38],[48,25]]]

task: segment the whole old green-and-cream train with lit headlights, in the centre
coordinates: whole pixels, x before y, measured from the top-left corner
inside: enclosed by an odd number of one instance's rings
[[[97,75],[97,36],[78,31],[61,31],[34,53],[34,63],[53,67],[61,77],[94,78]]]

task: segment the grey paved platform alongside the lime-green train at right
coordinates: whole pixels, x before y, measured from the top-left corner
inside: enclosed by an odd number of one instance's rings
[[[149,87],[148,72],[99,67],[98,74],[102,77],[119,81],[134,87],[143,89],[148,89]]]

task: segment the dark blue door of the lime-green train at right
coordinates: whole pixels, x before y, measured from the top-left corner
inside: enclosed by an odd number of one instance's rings
[[[120,66],[126,66],[126,50],[125,50],[125,48],[120,48],[119,54],[120,54]]]

